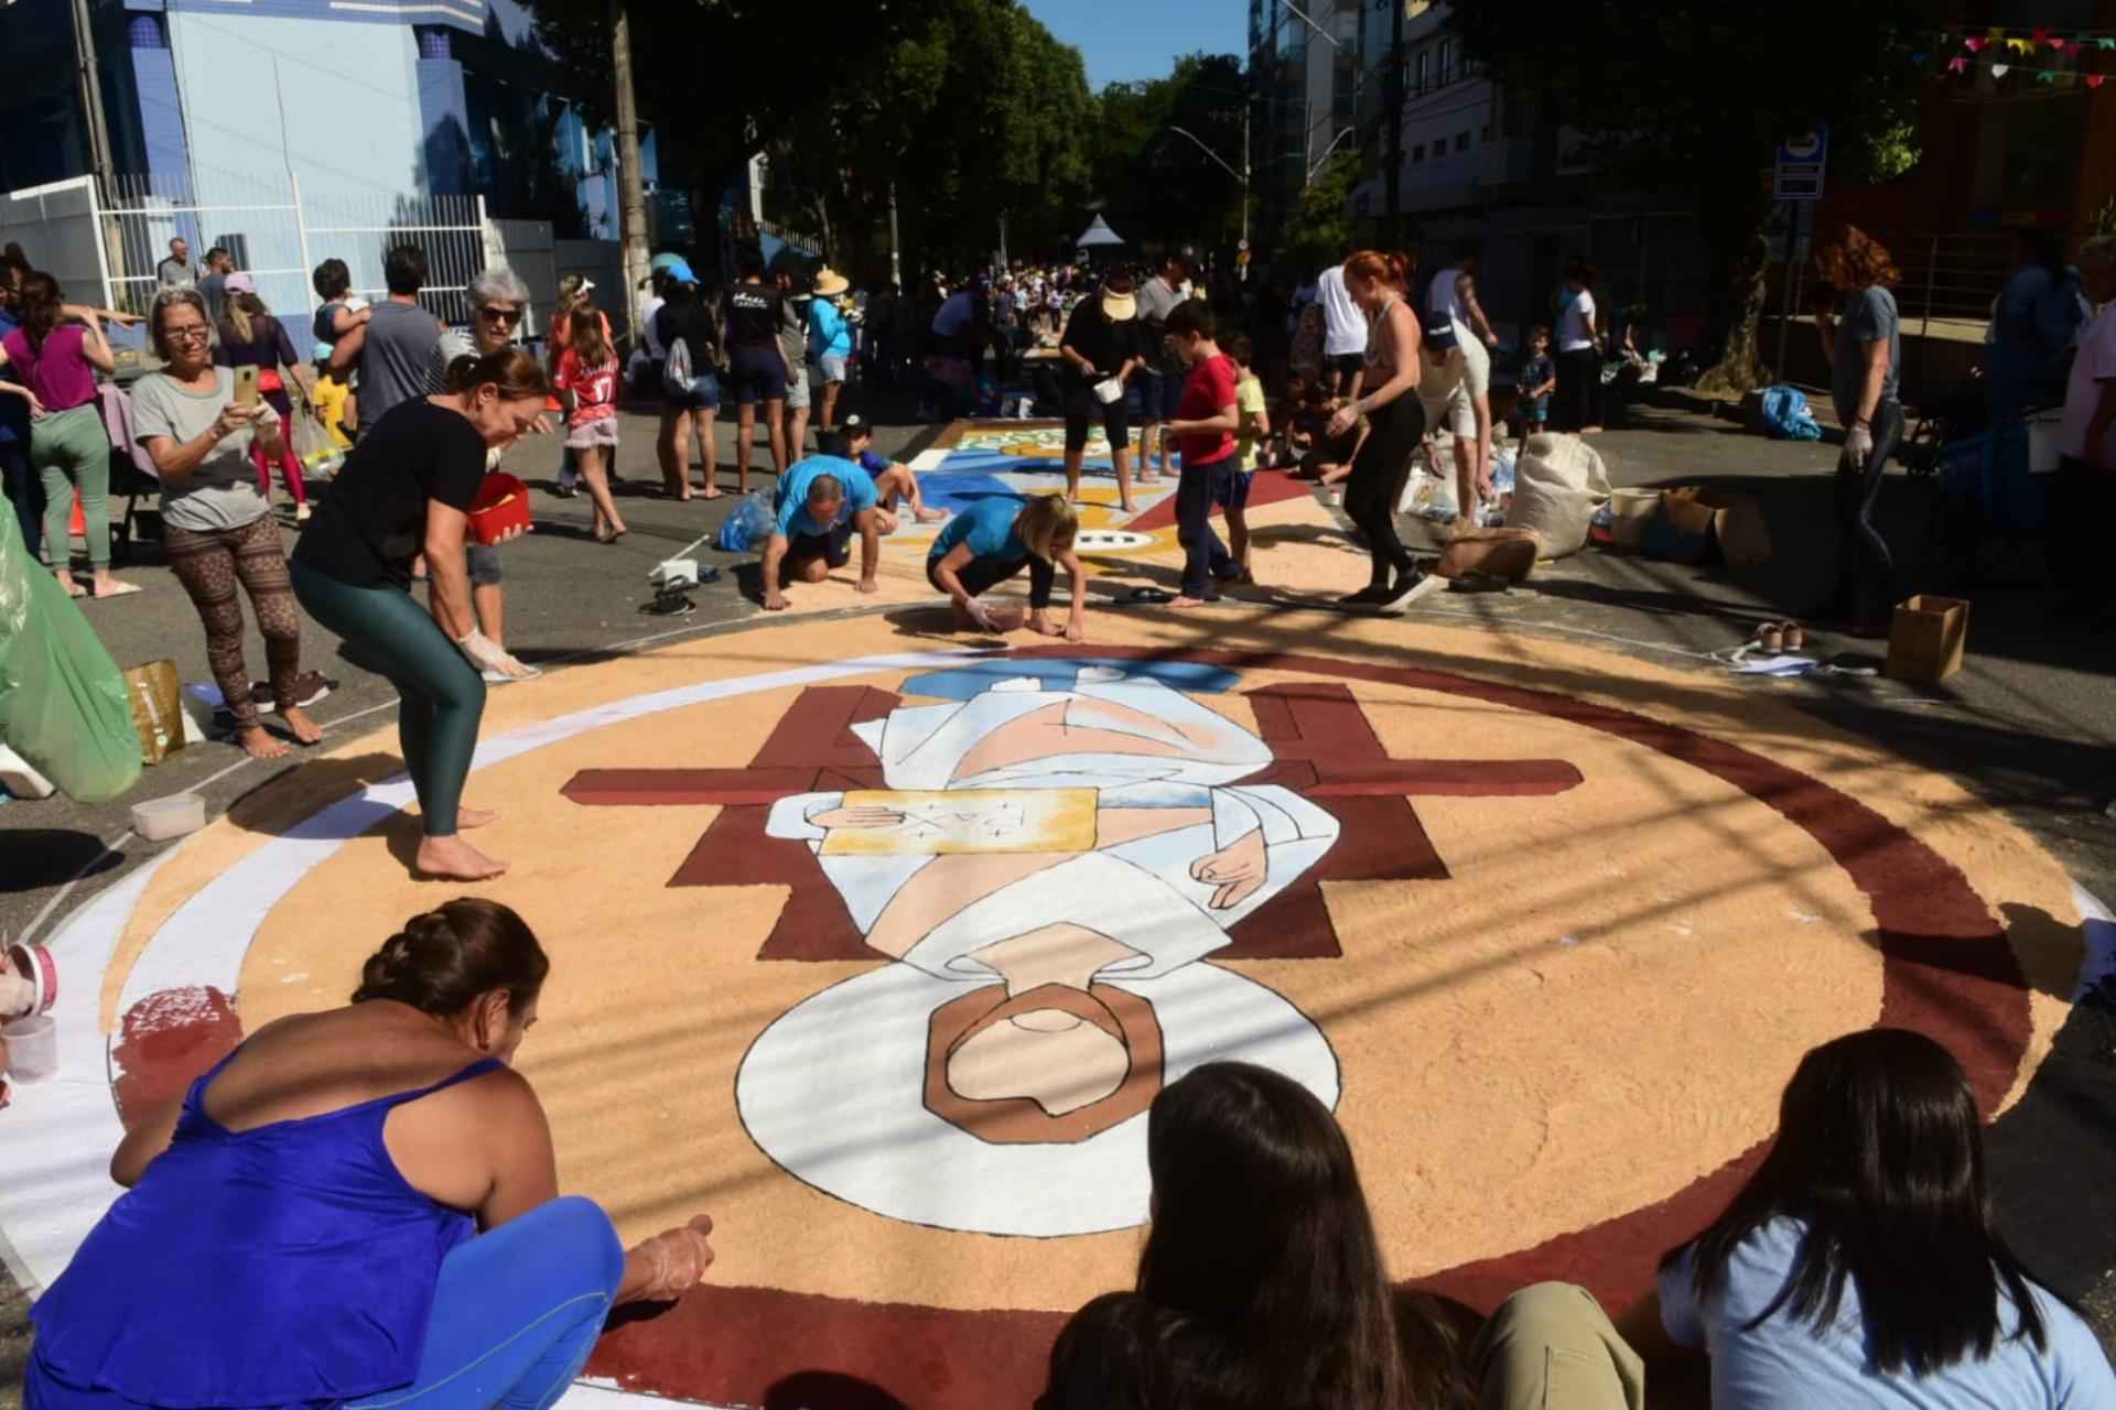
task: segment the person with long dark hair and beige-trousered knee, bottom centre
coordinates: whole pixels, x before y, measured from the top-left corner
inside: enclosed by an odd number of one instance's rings
[[[1060,1334],[1041,1410],[1090,1404],[1081,1389],[1111,1359],[1179,1385],[1170,1404],[1212,1410],[1473,1410],[1479,1385],[1481,1404],[1509,1410],[1642,1404],[1638,1359],[1579,1287],[1515,1294],[1471,1347],[1475,1313],[1390,1287],[1352,1148],[1289,1076],[1206,1063],[1170,1082],[1147,1116],[1147,1165],[1153,1228],[1130,1296],[1202,1319],[1217,1351],[1098,1298]],[[1202,1389],[1198,1361],[1212,1368]]]

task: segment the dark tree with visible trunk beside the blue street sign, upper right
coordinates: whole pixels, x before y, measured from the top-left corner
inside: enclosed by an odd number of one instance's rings
[[[1538,120],[1583,135],[1598,178],[1697,211],[1712,260],[1705,385],[1763,378],[1765,167],[1777,142],[1830,127],[1830,182],[1900,175],[1915,163],[1915,108],[1951,0],[1515,0],[1456,4],[1464,53]]]

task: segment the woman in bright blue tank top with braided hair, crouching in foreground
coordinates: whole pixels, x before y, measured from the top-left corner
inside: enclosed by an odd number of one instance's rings
[[[110,1163],[131,1192],[30,1313],[25,1410],[529,1410],[614,1304],[692,1287],[711,1220],[626,1254],[559,1196],[508,1065],[548,968],[514,911],[451,901],[349,1006],[269,1023],[146,1112]]]

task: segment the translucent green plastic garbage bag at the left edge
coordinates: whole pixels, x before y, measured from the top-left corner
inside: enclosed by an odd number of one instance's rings
[[[125,672],[66,588],[21,541],[0,497],[0,742],[83,803],[140,782]]]

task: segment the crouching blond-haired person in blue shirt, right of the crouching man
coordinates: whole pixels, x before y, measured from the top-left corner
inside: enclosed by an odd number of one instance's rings
[[[954,600],[954,621],[963,630],[1005,632],[1009,621],[978,598],[1028,569],[1028,626],[1043,636],[1088,641],[1088,569],[1079,567],[1073,539],[1079,516],[1062,495],[988,495],[956,514],[927,554],[927,581]],[[1052,586],[1058,569],[1073,579],[1073,611],[1066,624],[1050,619]],[[1020,626],[1020,617],[1011,619]]]

